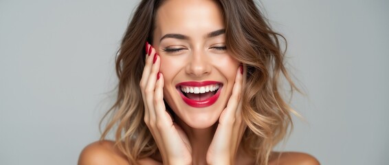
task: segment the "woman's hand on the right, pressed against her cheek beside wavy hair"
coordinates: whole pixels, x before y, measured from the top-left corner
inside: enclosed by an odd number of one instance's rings
[[[207,152],[208,164],[234,164],[246,129],[242,120],[243,65],[239,66],[230,100],[221,112],[216,133]]]

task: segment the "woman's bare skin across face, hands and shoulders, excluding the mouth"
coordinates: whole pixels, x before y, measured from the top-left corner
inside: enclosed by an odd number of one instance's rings
[[[144,121],[159,153],[140,159],[139,164],[254,164],[254,157],[239,147],[246,128],[241,118],[245,69],[221,49],[225,47],[223,29],[221,9],[214,1],[170,0],[157,10],[154,41],[146,47],[151,51],[145,55],[140,87]],[[221,33],[210,35],[212,32]],[[185,37],[164,37],[166,34]],[[172,49],[179,51],[167,51]],[[204,80],[223,83],[219,99],[209,107],[190,107],[179,96],[176,85]],[[164,100],[174,116],[166,111]],[[312,158],[303,153],[284,157],[276,159],[277,153],[273,153],[269,164],[293,164],[297,160],[295,163],[306,164]],[[111,141],[87,146],[78,164],[104,164],[101,162],[128,164]]]

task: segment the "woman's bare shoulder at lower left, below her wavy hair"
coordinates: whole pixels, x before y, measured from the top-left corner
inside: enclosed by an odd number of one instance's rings
[[[102,140],[93,142],[81,151],[78,158],[78,165],[130,165],[118,148],[115,142]],[[137,161],[137,164],[161,165],[152,158],[144,158]]]

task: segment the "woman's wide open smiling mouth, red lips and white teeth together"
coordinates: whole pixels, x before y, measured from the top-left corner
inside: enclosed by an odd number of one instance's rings
[[[177,91],[186,104],[191,107],[208,107],[220,96],[223,84],[216,81],[183,82],[176,85]]]

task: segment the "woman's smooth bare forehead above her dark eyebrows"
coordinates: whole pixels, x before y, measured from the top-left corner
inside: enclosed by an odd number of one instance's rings
[[[161,34],[212,32],[223,28],[221,8],[215,1],[169,0],[159,7],[155,17],[155,30]]]

